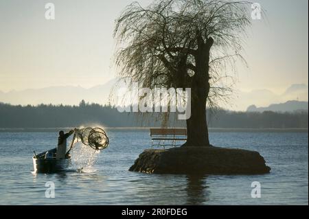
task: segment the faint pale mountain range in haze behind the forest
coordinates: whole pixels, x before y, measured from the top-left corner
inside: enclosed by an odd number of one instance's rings
[[[27,89],[24,91],[10,91],[4,93],[0,91],[0,102],[13,105],[38,105],[38,104],[64,104],[78,105],[81,100],[89,103],[108,104],[109,97],[117,80],[110,80],[105,84],[85,89],[83,87],[65,86],[65,87],[47,87],[43,89]],[[222,106],[233,111],[264,111],[261,108],[275,107],[280,108],[280,103],[286,103],[291,100],[299,102],[308,102],[308,86],[306,84],[293,84],[282,94],[276,94],[272,91],[253,90],[250,92],[237,91],[231,100],[231,108]],[[111,101],[113,104],[113,100]],[[279,106],[270,106],[279,104]],[[253,107],[252,105],[255,105]],[[299,105],[299,104],[297,104]],[[303,104],[304,105],[304,104]],[[248,106],[250,106],[248,108]],[[300,105],[299,105],[300,106]],[[297,108],[298,106],[287,106],[282,108]],[[301,106],[303,108],[303,106]],[[308,104],[307,104],[308,109]]]

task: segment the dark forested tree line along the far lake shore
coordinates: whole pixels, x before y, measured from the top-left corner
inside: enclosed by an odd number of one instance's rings
[[[308,112],[264,113],[218,110],[207,115],[210,128],[308,128]],[[171,115],[170,126],[185,127]],[[113,106],[87,104],[79,106],[12,106],[0,103],[0,128],[57,128],[100,124],[106,127],[159,127],[155,116],[119,113]]]

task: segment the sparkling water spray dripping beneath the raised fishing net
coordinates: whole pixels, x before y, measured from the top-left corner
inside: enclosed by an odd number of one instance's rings
[[[75,143],[71,150],[72,167],[78,172],[95,172],[94,165],[98,161],[100,150],[93,150],[83,143]]]

